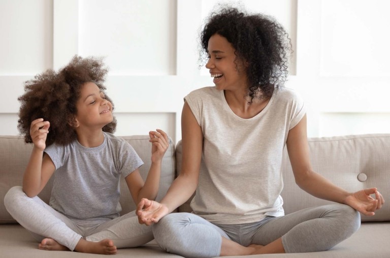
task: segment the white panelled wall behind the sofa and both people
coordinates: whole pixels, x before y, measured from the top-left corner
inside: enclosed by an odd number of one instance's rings
[[[222,1],[223,2],[223,1]],[[162,128],[178,141],[183,97],[212,85],[197,37],[214,0],[0,0],[0,135],[16,135],[23,82],[74,54],[106,56],[117,135]],[[293,42],[290,78],[309,136],[390,133],[390,2],[247,0]]]

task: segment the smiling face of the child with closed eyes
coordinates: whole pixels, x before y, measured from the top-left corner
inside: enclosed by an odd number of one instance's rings
[[[101,129],[113,121],[111,102],[106,100],[102,90],[93,82],[86,82],[81,87],[76,107],[76,127]]]

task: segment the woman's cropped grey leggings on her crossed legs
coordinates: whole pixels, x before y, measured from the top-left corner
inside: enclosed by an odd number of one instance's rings
[[[343,204],[266,217],[248,224],[213,224],[191,213],[171,213],[152,226],[164,250],[185,257],[219,256],[222,238],[243,246],[267,245],[278,238],[286,253],[316,252],[332,248],[360,227],[360,213]]]

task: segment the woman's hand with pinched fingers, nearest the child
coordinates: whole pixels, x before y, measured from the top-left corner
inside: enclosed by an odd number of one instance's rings
[[[169,212],[165,205],[143,198],[137,206],[136,213],[140,224],[151,225],[157,223]]]

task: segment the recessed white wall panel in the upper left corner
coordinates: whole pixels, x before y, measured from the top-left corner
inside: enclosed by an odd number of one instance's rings
[[[52,67],[52,8],[51,0],[0,1],[0,76]]]

